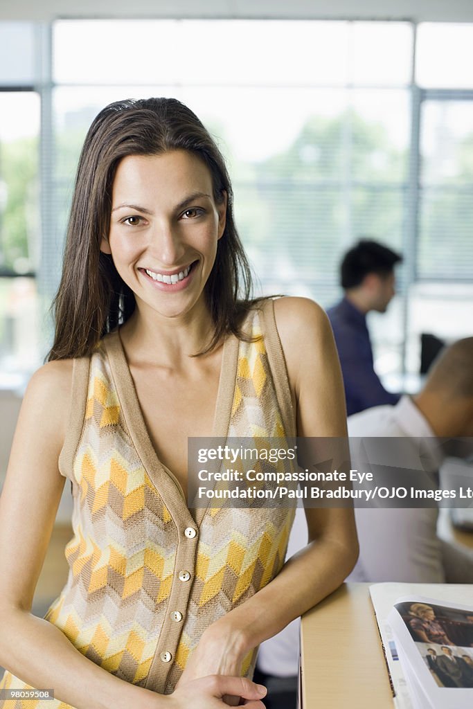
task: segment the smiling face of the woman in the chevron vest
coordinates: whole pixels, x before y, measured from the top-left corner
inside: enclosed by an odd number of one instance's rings
[[[138,311],[177,318],[204,307],[204,286],[225,228],[226,200],[213,199],[211,173],[184,150],[130,155],[113,181],[108,240]]]

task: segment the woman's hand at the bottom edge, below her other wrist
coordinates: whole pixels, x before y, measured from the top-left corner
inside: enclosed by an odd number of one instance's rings
[[[265,709],[260,700],[266,695],[266,688],[245,677],[214,674],[192,681],[183,678],[184,675],[175,691],[167,697],[169,709],[222,709],[227,696],[241,697],[247,709]]]

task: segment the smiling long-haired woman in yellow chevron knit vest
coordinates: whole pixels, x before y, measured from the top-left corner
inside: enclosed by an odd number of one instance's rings
[[[2,708],[37,691],[37,709],[263,709],[257,647],[352,569],[352,510],[306,510],[284,564],[294,509],[189,508],[187,442],[343,437],[343,388],[316,303],[250,298],[223,158],[179,101],[91,125],[55,306],[0,498]],[[69,576],[40,619],[65,479]]]

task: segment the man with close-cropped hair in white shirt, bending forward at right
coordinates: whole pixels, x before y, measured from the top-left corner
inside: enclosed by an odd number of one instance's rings
[[[423,462],[438,470],[442,463],[438,437],[473,436],[473,337],[440,352],[416,396],[349,416],[348,433],[350,437],[422,437]],[[352,468],[357,468],[353,452]],[[357,508],[360,557],[347,581],[445,581],[437,518],[437,508]],[[304,547],[306,535],[304,512],[298,509],[289,540],[292,554]],[[265,674],[289,676],[296,674],[298,660],[299,624],[294,620],[261,645],[258,667]]]

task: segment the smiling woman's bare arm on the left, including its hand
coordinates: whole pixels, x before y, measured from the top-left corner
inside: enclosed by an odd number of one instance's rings
[[[65,479],[57,461],[69,416],[72,362],[52,362],[32,378],[21,407],[0,498],[0,664],[77,709],[223,707],[228,677],[206,678],[169,696],[133,686],[101,669],[54,625],[30,613]],[[240,688],[240,685],[238,685]],[[255,702],[255,685],[242,686]]]

